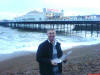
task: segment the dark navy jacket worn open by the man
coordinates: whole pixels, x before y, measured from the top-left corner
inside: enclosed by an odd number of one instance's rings
[[[56,44],[58,58],[62,56],[62,50],[60,43]],[[38,47],[36,59],[39,62],[40,74],[42,75],[54,75],[53,65],[51,64],[53,54],[53,45],[48,41],[44,41]],[[58,64],[59,72],[62,72],[62,63]]]

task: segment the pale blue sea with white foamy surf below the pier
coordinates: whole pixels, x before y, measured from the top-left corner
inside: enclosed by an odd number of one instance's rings
[[[80,45],[92,45],[100,43],[100,38],[91,37],[90,32],[78,32],[74,35],[63,35],[58,33],[56,40],[61,43],[62,50],[68,50],[69,48]],[[100,35],[100,34],[99,34]],[[39,44],[47,39],[45,32],[39,31],[27,31],[12,29],[10,27],[0,26],[0,56],[20,54],[20,52],[36,52]],[[4,56],[3,56],[4,55]]]

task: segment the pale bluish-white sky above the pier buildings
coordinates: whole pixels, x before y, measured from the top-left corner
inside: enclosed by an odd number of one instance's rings
[[[0,20],[43,8],[63,9],[65,16],[100,15],[100,0],[0,0]]]

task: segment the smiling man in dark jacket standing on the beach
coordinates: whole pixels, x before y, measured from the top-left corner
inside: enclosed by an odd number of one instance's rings
[[[63,55],[60,43],[56,41],[56,31],[50,29],[47,31],[48,39],[38,47],[36,59],[39,63],[40,75],[61,75],[62,63],[53,61]]]

